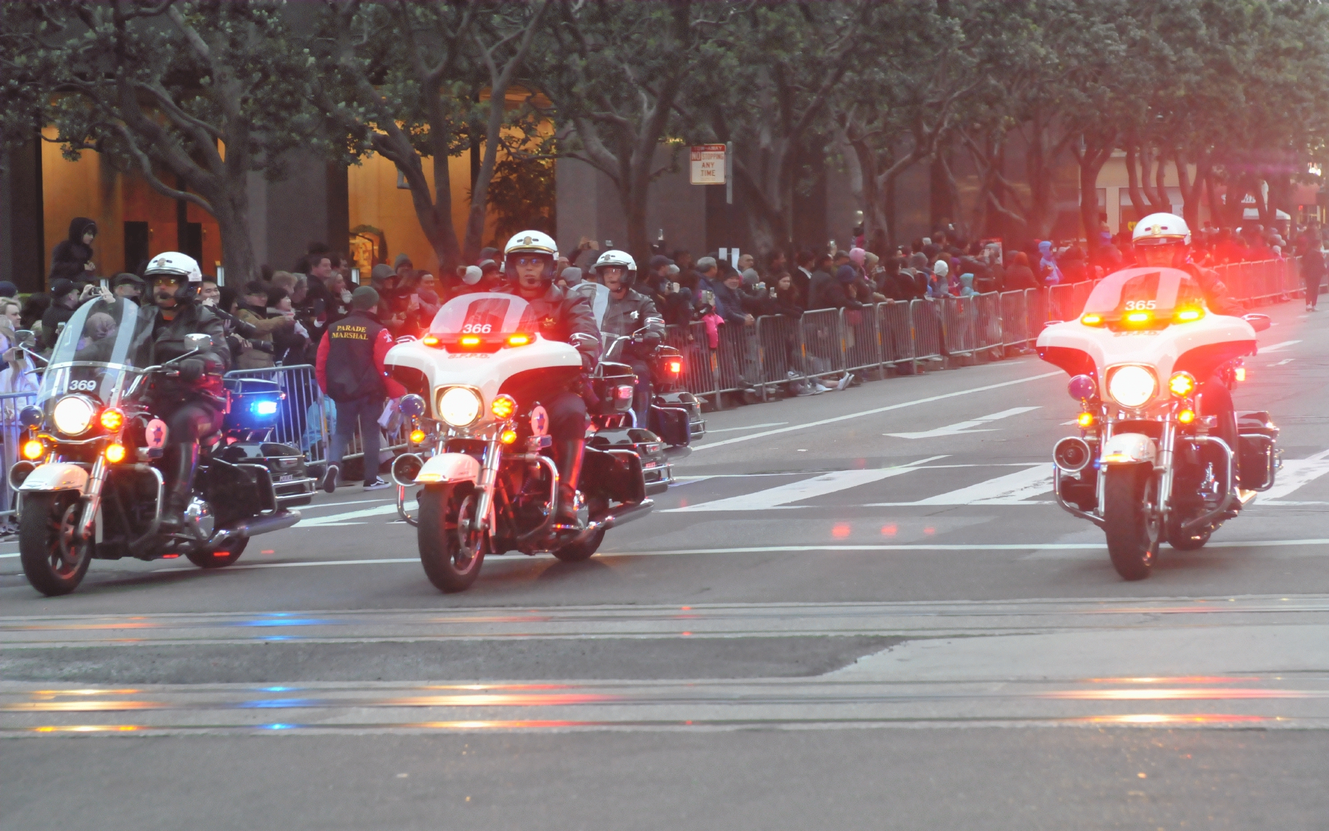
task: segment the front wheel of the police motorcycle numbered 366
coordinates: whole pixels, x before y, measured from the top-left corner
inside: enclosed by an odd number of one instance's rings
[[[466,532],[476,507],[469,484],[424,488],[416,538],[424,573],[440,592],[465,592],[480,576],[488,540],[484,532]]]

